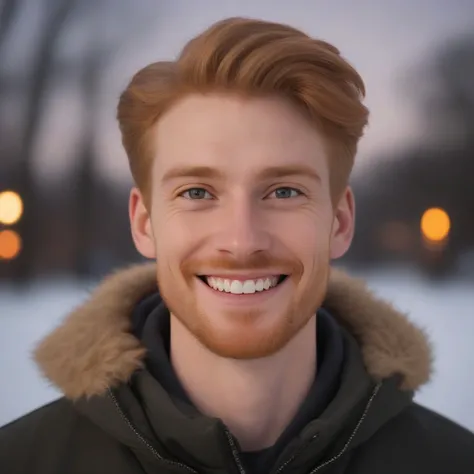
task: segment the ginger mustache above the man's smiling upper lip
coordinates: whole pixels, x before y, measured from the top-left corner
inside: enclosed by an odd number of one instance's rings
[[[282,258],[268,253],[256,253],[244,258],[235,258],[231,255],[220,255],[206,259],[190,258],[182,262],[181,271],[184,275],[194,276],[202,274],[203,269],[219,271],[265,271],[278,269],[282,274],[299,274],[303,266],[295,259]],[[200,273],[201,272],[201,273]]]

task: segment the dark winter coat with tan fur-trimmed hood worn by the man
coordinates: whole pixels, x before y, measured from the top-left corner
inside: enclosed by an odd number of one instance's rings
[[[222,421],[188,413],[146,370],[130,315],[155,275],[111,275],[37,347],[64,396],[0,429],[2,474],[245,474]],[[474,473],[474,435],[413,401],[431,371],[424,333],[334,269],[323,306],[347,334],[339,390],[265,474]]]

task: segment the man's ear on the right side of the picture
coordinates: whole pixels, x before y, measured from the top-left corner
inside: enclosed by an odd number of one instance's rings
[[[348,186],[334,209],[331,236],[331,259],[342,257],[351,246],[355,229],[355,200]]]

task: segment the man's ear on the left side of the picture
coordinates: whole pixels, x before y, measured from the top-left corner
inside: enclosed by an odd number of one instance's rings
[[[130,191],[128,213],[133,242],[138,252],[145,258],[156,258],[151,218],[145,206],[143,196],[136,187]]]

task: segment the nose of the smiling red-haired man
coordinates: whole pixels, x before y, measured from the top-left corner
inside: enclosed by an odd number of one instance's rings
[[[231,254],[236,260],[245,260],[270,249],[268,222],[257,203],[241,199],[222,211],[216,234],[219,252]]]

